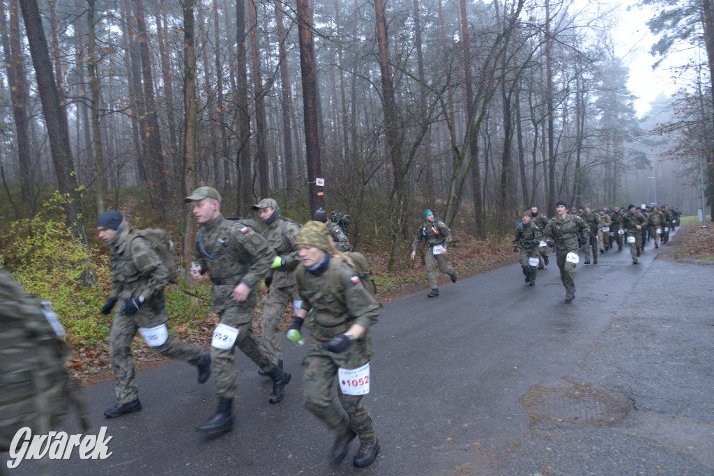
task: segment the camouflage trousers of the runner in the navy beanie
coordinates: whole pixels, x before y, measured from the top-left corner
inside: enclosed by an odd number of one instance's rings
[[[152,305],[153,304],[153,305]],[[114,393],[119,405],[133,402],[139,398],[139,388],[134,375],[134,355],[131,354],[131,341],[139,328],[153,328],[166,323],[169,313],[161,305],[145,303],[134,315],[121,311],[124,301],[120,300],[111,323],[110,350],[111,371],[114,373]],[[205,350],[197,345],[166,340],[165,343],[152,347],[151,350],[170,359],[186,360],[191,365],[198,365],[203,360]]]

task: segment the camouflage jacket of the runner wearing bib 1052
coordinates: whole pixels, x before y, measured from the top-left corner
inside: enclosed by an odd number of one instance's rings
[[[326,269],[316,275],[306,270],[304,280],[298,284],[302,307],[312,308],[315,316],[313,339],[324,342],[346,332],[353,324],[369,328],[377,322],[382,309],[350,265],[340,258],[329,259],[328,266],[338,267],[338,273]],[[332,276],[338,276],[340,282],[331,283]]]

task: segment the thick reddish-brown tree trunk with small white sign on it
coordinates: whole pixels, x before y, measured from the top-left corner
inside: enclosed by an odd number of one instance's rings
[[[323,208],[324,188],[316,186],[315,179],[322,177],[320,138],[318,133],[317,89],[315,84],[315,52],[312,38],[312,11],[309,0],[297,0],[298,41],[300,43],[300,72],[303,84],[303,122],[305,127],[305,153],[308,163],[310,215]]]

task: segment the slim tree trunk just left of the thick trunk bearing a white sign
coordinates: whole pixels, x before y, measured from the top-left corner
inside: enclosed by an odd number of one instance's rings
[[[283,152],[285,155],[285,178],[288,193],[288,201],[295,199],[296,167],[293,157],[293,137],[291,131],[292,116],[292,96],[290,84],[290,74],[288,71],[288,57],[285,49],[285,42],[288,38],[288,31],[283,26],[283,11],[281,6],[275,6],[276,21],[278,25],[278,54],[280,55],[280,85],[283,106]]]

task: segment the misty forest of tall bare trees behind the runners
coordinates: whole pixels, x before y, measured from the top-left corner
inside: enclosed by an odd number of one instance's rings
[[[687,52],[643,117],[606,4],[0,0],[2,260],[28,265],[37,223],[98,248],[120,209],[189,263],[181,198],[203,185],[226,216],[268,196],[296,221],[349,213],[392,272],[423,208],[478,239],[561,198],[711,208],[712,1],[632,8],[653,63]]]

